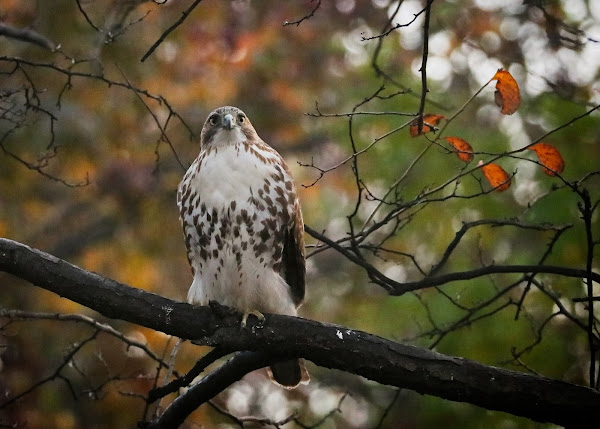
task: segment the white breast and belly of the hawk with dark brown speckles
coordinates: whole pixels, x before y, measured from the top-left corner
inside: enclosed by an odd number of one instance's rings
[[[279,275],[295,203],[292,178],[268,146],[238,143],[201,152],[178,191],[194,272],[188,300],[295,314]]]

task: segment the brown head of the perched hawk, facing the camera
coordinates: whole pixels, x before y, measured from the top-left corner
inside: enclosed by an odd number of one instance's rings
[[[222,146],[246,140],[258,140],[250,120],[237,107],[224,106],[213,110],[206,118],[200,135],[200,146]]]

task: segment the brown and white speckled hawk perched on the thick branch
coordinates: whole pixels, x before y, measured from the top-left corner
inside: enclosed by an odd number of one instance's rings
[[[225,106],[204,123],[200,154],[177,191],[194,280],[188,302],[215,300],[264,319],[296,316],[304,300],[304,224],[290,170],[244,112]],[[307,383],[301,359],[269,376],[286,388]]]

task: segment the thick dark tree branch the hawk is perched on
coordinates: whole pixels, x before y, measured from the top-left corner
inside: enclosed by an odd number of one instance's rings
[[[600,403],[600,392],[583,386],[486,366],[312,320],[267,315],[264,325],[240,330],[236,316],[220,316],[207,307],[196,308],[129,287],[12,240],[0,239],[0,270],[107,317],[181,338],[278,358],[304,357],[382,384],[536,421],[585,427],[595,418]],[[211,374],[206,382],[219,376]],[[234,378],[217,383],[214,392],[225,389]],[[202,389],[200,386],[203,384],[195,389]],[[202,397],[194,407],[205,400]]]

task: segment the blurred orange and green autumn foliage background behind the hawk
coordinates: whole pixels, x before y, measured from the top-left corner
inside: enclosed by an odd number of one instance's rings
[[[413,119],[421,93],[419,12],[425,2],[206,0],[140,61],[192,3],[0,3],[0,23],[31,29],[58,47],[49,50],[0,37],[0,236],[184,300],[191,273],[175,191],[198,154],[207,113],[227,104],[242,108],[259,135],[287,160],[300,188],[306,224],[332,239],[347,236],[347,216],[357,201],[352,163],[340,164],[353,153],[348,117],[318,112],[351,112],[384,85],[360,110],[406,115],[356,116],[352,137],[357,150]],[[309,15],[318,3],[308,19],[283,25]],[[396,24],[409,25],[377,37]],[[520,85],[519,111],[501,115],[489,85],[446,134],[468,140],[478,152],[475,162],[526,146],[600,103],[599,39],[600,4],[593,0],[435,1],[426,111],[452,116],[503,67]],[[594,112],[545,140],[562,153],[565,180],[599,169],[598,125]],[[382,198],[405,172],[395,192],[398,199],[409,201],[462,171],[464,163],[438,146],[419,157],[428,144],[424,137],[409,137],[403,128],[359,157],[360,179],[368,192],[361,194],[353,218],[358,227],[378,205],[369,196]],[[544,175],[528,157],[534,159],[532,153],[501,159],[502,166],[515,173],[504,193],[481,193],[485,184],[477,172],[462,178],[457,187],[476,198],[424,205],[385,242],[397,253],[375,255],[372,263],[394,280],[417,280],[421,274],[415,264],[398,252],[411,255],[428,270],[462,222],[514,218],[572,224],[546,263],[584,268],[585,231],[577,195],[559,179]],[[310,167],[338,164],[322,177]],[[584,183],[596,199],[597,177],[592,174]],[[597,239],[597,212],[593,221]],[[474,228],[446,271],[490,263],[535,264],[551,237],[547,230]],[[538,276],[543,287],[531,288],[515,320],[526,285],[499,291],[518,274],[393,297],[335,251],[316,251],[315,240],[308,244],[314,255],[308,260],[302,317],[485,364],[589,383],[587,334],[576,323],[587,320],[587,312],[572,300],[585,296],[581,279]],[[175,344],[161,333],[104,320],[7,275],[0,275],[0,282],[2,307],[86,314],[109,322],[165,358]],[[0,423],[27,428],[134,427],[144,412],[140,395],[151,388],[156,373],[155,363],[140,349],[100,334],[68,359],[60,376],[52,377],[75,344],[91,332],[72,322],[6,319],[0,349],[2,401],[46,377],[52,380],[0,411]],[[527,352],[515,359],[524,349]],[[191,367],[205,351],[184,345],[176,358],[178,371]],[[220,407],[237,417],[273,421],[297,411],[305,427],[546,427],[314,365],[309,370],[311,383],[292,392],[278,390],[262,372],[249,374],[216,398],[214,407],[197,410],[186,425],[237,427],[217,410]],[[290,422],[285,427],[296,426]]]

